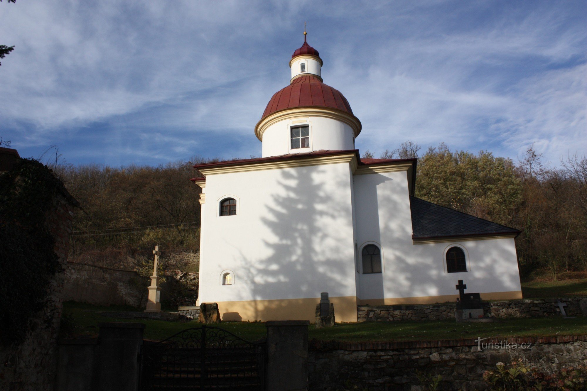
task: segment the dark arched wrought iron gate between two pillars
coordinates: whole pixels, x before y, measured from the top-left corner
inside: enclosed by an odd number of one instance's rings
[[[264,390],[265,344],[202,326],[145,343],[141,391]]]

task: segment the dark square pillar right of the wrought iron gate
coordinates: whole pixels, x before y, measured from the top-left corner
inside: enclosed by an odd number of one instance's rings
[[[269,321],[267,326],[268,391],[308,389],[309,321]]]

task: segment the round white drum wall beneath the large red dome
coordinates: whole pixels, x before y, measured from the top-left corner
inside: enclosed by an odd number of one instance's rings
[[[310,147],[291,149],[291,127],[305,124],[309,126]],[[263,157],[317,150],[351,149],[355,149],[353,129],[342,121],[328,117],[301,115],[284,119],[272,124],[263,133]]]

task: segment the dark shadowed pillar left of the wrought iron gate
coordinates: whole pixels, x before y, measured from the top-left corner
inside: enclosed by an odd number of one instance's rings
[[[143,323],[99,323],[97,391],[137,391]]]

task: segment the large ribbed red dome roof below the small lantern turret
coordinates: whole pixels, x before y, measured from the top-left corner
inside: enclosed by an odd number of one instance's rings
[[[308,106],[330,107],[353,114],[349,102],[338,90],[325,85],[317,76],[303,75],[271,97],[261,118],[279,110]]]

